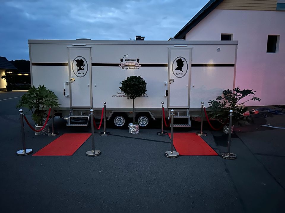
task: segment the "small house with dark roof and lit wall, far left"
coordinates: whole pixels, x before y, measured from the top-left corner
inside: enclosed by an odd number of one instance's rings
[[[14,84],[13,73],[17,70],[7,58],[0,56],[0,91],[12,91],[12,85]]]

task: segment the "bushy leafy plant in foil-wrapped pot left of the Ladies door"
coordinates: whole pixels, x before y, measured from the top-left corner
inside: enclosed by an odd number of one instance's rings
[[[19,108],[21,106],[31,110],[32,119],[35,122],[35,129],[39,130],[43,127],[43,120],[46,117],[46,110],[44,110],[44,107],[57,107],[59,104],[57,96],[52,91],[47,89],[44,85],[39,85],[38,88],[33,86],[21,97],[16,107]],[[36,135],[44,135],[47,133],[49,133],[47,125],[42,131],[35,132]]]

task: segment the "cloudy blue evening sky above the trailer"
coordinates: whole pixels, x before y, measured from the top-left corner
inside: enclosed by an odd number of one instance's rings
[[[207,0],[12,0],[1,2],[0,55],[29,59],[28,39],[168,40]]]

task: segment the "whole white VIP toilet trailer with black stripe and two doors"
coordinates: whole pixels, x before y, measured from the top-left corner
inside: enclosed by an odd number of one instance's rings
[[[237,41],[94,41],[29,40],[31,84],[45,85],[61,104],[56,115],[72,122],[100,117],[106,101],[107,117],[117,127],[132,117],[132,100],[119,89],[126,77],[140,75],[147,84],[144,97],[135,99],[141,126],[165,114],[189,118],[191,126],[201,101],[207,102],[232,89],[235,80]],[[179,126],[179,125],[178,125]]]

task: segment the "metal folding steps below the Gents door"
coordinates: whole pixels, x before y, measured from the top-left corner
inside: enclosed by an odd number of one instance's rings
[[[168,109],[168,113],[171,114],[170,109]],[[189,109],[174,109],[173,119],[173,127],[191,127]],[[181,123],[182,121],[184,122]]]

